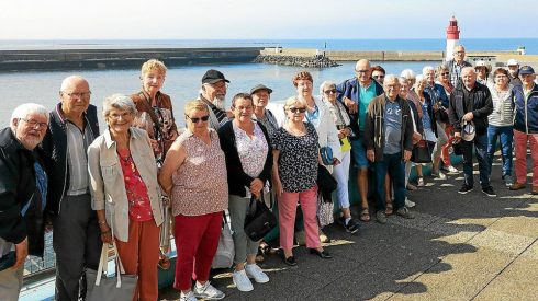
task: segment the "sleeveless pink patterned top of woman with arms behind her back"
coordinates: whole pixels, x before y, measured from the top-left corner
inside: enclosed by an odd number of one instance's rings
[[[228,208],[224,152],[216,131],[211,128],[209,130],[210,146],[190,130],[181,134],[175,142],[184,149],[187,157],[172,174],[173,216],[203,216]]]

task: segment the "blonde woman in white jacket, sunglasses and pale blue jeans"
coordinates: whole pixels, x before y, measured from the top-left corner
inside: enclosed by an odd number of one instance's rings
[[[336,198],[340,205],[340,210],[343,217],[339,219],[340,223],[344,225],[347,232],[357,233],[359,230],[358,224],[351,219],[351,211],[349,210],[349,164],[351,162],[351,144],[349,143],[348,137],[354,136],[349,125],[351,120],[347,114],[344,104],[336,100],[336,84],[332,81],[324,81],[320,85],[320,95],[322,101],[327,105],[336,128],[338,129],[338,139],[340,139],[341,146],[341,164],[334,166],[333,175],[338,182],[338,187],[336,188]],[[368,221],[370,219],[370,213],[368,208],[363,208],[360,212],[360,219]]]

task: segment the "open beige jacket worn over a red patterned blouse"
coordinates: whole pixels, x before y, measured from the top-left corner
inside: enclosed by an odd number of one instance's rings
[[[147,187],[155,223],[162,223],[162,204],[157,183],[157,165],[149,144],[149,137],[143,129],[132,127],[130,150],[136,169]],[[128,201],[123,171],[117,158],[116,143],[107,129],[88,148],[88,171],[90,174],[91,208],[103,210],[107,223],[114,236],[128,241]]]

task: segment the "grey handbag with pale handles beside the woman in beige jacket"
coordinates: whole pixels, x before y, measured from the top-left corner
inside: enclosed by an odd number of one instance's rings
[[[115,242],[112,245],[115,254],[115,277],[107,277],[109,244],[103,244],[97,271],[93,269],[86,270],[86,301],[133,300],[138,276],[125,275]]]

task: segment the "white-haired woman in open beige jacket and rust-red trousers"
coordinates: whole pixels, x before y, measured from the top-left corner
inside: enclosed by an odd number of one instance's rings
[[[108,129],[88,148],[90,193],[102,242],[115,240],[125,273],[138,275],[133,300],[156,300],[162,205],[149,137],[131,127],[135,115],[128,96],[104,100]]]

